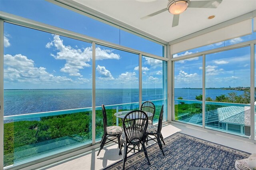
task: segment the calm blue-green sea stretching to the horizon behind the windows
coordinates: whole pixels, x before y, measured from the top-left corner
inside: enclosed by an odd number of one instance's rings
[[[207,89],[206,96],[243,91]],[[175,89],[175,99],[195,100],[202,89]],[[96,106],[138,102],[138,89],[96,89]],[[162,89],[143,89],[142,101],[164,99]],[[4,116],[92,107],[92,89],[4,90]]]

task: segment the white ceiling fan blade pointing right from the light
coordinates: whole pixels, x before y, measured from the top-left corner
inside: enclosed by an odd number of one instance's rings
[[[217,8],[222,0],[190,1],[189,8]]]

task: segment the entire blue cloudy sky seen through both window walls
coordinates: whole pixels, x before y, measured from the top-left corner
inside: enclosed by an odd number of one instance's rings
[[[42,0],[1,0],[0,10],[108,42],[162,56],[162,46]],[[22,10],[21,10],[22,9]],[[68,24],[67,24],[68,22]],[[255,39],[207,45],[174,57]],[[92,45],[5,23],[5,89],[92,87]],[[206,56],[206,87],[250,86],[248,47]],[[163,62],[142,58],[143,88],[162,87]],[[175,88],[202,88],[202,57],[176,61]],[[200,82],[200,83],[198,83]],[[138,55],[96,46],[96,88],[138,88]]]

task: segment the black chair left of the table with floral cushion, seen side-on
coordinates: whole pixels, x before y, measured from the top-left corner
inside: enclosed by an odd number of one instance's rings
[[[105,106],[102,105],[102,114],[103,114],[103,127],[104,127],[104,134],[102,135],[102,139],[100,141],[100,150],[102,150],[102,148],[104,147],[105,144],[107,144],[108,142],[115,142],[118,143],[118,148],[120,148],[120,135],[122,134],[123,130],[121,127],[118,126],[107,126],[107,114],[106,114],[106,109]],[[118,142],[114,141],[114,139],[109,139],[109,136],[115,136],[117,137]],[[106,140],[109,140],[108,142],[106,142]],[[100,150],[98,151],[97,156],[99,156],[100,154]]]

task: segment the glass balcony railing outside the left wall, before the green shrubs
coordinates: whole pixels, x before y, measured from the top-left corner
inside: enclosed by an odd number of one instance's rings
[[[166,100],[152,102],[156,105],[155,119],[158,119]],[[105,107],[108,126],[122,125],[114,113],[139,109],[139,103]],[[103,134],[101,106],[96,107],[95,128],[95,138],[99,141]],[[91,143],[92,107],[4,117],[4,166],[17,166]]]

